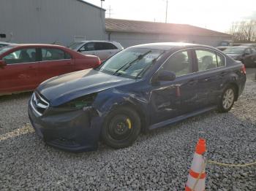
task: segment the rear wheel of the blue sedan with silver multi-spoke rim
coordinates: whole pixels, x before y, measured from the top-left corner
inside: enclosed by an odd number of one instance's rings
[[[231,95],[230,93],[233,95]],[[228,95],[230,95],[230,99],[228,99]],[[236,88],[233,87],[233,85],[228,85],[222,93],[222,98],[219,100],[219,105],[218,105],[219,112],[224,113],[224,112],[230,111],[230,109],[233,107],[233,104],[235,102],[235,98],[236,98]]]

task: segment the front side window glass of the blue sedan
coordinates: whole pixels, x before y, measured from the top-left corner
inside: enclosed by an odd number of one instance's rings
[[[167,59],[161,69],[174,72],[176,77],[192,73],[192,59],[189,52],[176,52]]]

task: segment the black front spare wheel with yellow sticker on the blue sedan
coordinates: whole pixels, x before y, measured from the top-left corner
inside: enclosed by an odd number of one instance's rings
[[[134,109],[114,109],[105,119],[102,141],[115,149],[129,147],[138,138],[140,128],[140,117]]]

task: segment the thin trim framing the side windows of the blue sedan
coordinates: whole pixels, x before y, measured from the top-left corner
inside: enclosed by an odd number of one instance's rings
[[[220,55],[222,55],[222,56],[225,58],[225,61],[224,61],[225,64],[224,64],[224,66],[219,66],[219,67],[214,68],[214,69],[220,69],[220,68],[223,68],[223,67],[226,67],[226,66],[227,66],[227,58],[226,58],[226,56],[225,56],[222,52],[219,52],[219,51],[217,51],[217,50],[214,50],[214,49],[212,49],[212,48],[210,48],[210,47],[187,47],[187,48],[184,48],[184,49],[181,49],[181,50],[177,50],[176,52],[183,52],[183,51],[186,51],[186,50],[192,50],[192,56],[194,55],[194,56],[193,56],[194,58],[192,58],[192,64],[193,64],[193,66],[195,67],[195,66],[197,66],[197,64],[195,63],[195,50],[196,50],[196,49],[212,50],[212,51],[214,51],[214,52],[218,52]],[[151,75],[151,77],[150,77],[150,79],[149,79],[149,82],[152,81],[154,75],[157,74],[157,72],[159,71],[159,69],[161,69],[162,65],[164,65],[164,64],[166,63],[166,61],[167,61],[171,56],[173,56],[174,54],[176,54],[176,52],[173,52],[171,55],[169,55],[169,56],[165,59],[165,61],[161,64],[161,66],[159,66],[159,68],[157,69],[157,71],[155,71],[154,74]],[[197,66],[197,67],[198,67],[198,66]],[[194,69],[195,69],[195,68],[194,68]],[[207,70],[204,70],[204,71],[194,71],[194,72],[189,73],[189,74],[184,74],[184,75],[178,76],[177,78],[184,77],[184,76],[191,75],[191,74],[202,73],[202,72],[210,71],[210,70],[214,70],[214,69],[207,69]],[[172,81],[172,82],[173,82],[173,81]]]

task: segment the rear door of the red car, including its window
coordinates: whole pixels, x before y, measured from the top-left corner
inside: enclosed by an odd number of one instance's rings
[[[39,49],[39,81],[75,71],[74,60],[69,53],[56,47]]]

